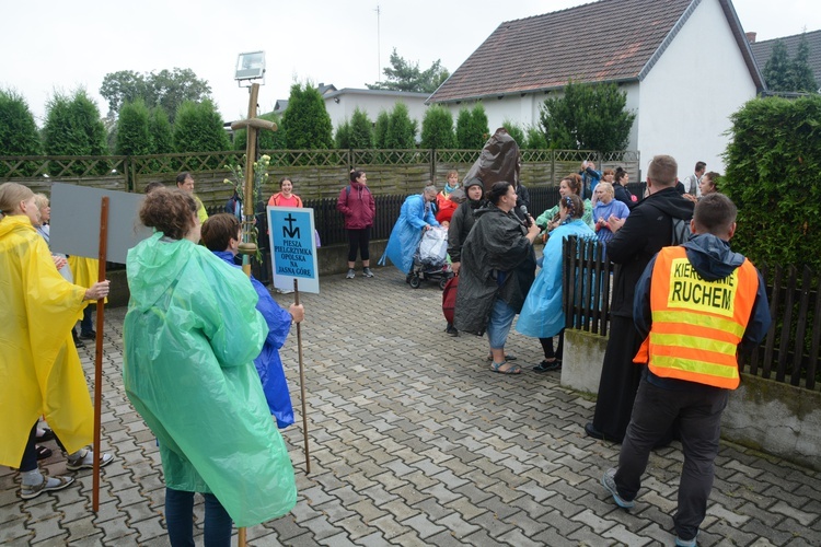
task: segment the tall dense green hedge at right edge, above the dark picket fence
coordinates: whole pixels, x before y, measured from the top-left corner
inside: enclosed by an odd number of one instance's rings
[[[731,116],[727,174],[733,246],[753,263],[821,270],[821,96],[755,98]]]

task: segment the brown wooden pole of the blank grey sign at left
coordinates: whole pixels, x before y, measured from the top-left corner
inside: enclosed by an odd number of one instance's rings
[[[105,280],[105,260],[108,254],[108,196],[100,203],[100,253],[97,254],[97,280]],[[96,513],[100,510],[100,429],[103,406],[103,330],[105,325],[105,299],[97,300],[97,335],[94,350],[94,469],[91,491],[91,507]]]

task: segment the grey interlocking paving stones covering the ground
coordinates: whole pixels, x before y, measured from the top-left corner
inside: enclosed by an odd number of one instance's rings
[[[441,291],[414,290],[394,268],[323,278],[301,294],[311,473],[305,473],[293,328],[282,350],[297,423],[284,431],[299,487],[293,511],[247,529],[248,545],[672,545],[680,445],[650,457],[636,508],[599,480],[618,446],[585,437],[594,403],[535,374],[534,339],[511,333],[525,372],[494,374],[486,338],[443,333]],[[277,294],[280,303],[292,295]],[[160,455],[122,383],[125,309],[106,311],[100,511],[91,472],[77,485],[19,498],[0,469],[0,544],[167,545]],[[81,350],[93,374],[93,348]],[[51,475],[65,458],[42,463]],[[722,443],[699,545],[821,545],[821,474]],[[201,544],[201,501],[196,507]],[[234,534],[234,544],[236,535]]]

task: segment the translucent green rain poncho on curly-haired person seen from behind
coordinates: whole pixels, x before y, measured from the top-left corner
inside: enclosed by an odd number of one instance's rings
[[[236,526],[293,508],[293,468],[253,360],[267,326],[250,280],[162,233],[128,252],[123,380],[160,442],[165,484],[212,492]]]

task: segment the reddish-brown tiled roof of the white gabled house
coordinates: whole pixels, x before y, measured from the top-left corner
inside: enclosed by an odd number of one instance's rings
[[[737,42],[745,50],[751,72],[758,73],[731,3],[719,2]],[[698,3],[699,0],[601,0],[507,21],[429,102],[554,90],[568,80],[640,80]]]

